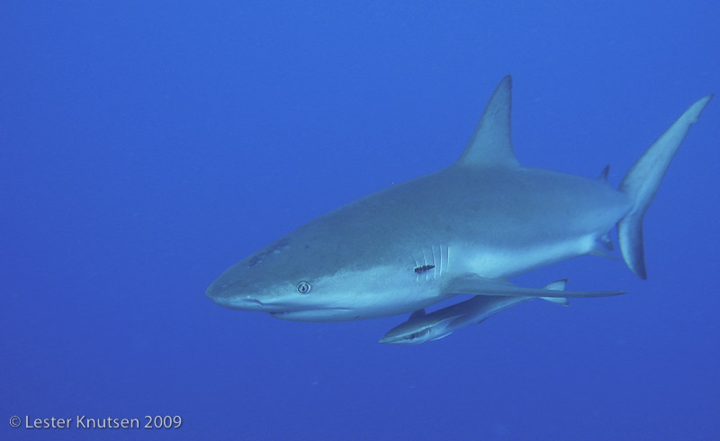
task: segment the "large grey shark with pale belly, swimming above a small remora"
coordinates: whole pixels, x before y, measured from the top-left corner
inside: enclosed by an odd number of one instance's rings
[[[620,294],[558,293],[508,279],[602,254],[601,244],[618,222],[626,224],[620,230],[626,263],[643,276],[637,270],[644,268],[637,232],[649,195],[657,192],[674,151],[711,97],[690,106],[648,148],[618,191],[603,179],[519,165],[510,139],[506,76],[455,164],[311,220],[231,266],[206,295],[220,306],[278,319],[341,321],[409,313],[461,293]],[[658,149],[662,154],[653,153]]]

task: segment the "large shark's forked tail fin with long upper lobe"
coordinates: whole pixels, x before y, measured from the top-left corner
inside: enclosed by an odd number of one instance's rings
[[[620,183],[619,190],[628,193],[633,200],[633,208],[617,222],[617,236],[625,263],[643,279],[647,278],[643,247],[643,220],[645,212],[655,199],[662,177],[680,148],[682,140],[690,130],[690,125],[698,121],[700,113],[713,98],[712,94],[700,98],[685,111],[670,129],[645,150],[635,164],[630,167]]]

